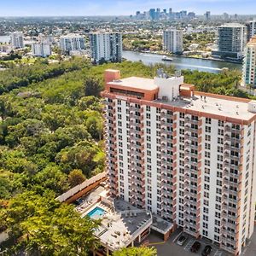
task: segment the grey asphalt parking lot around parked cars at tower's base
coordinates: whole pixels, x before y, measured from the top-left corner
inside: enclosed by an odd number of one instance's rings
[[[197,253],[191,253],[190,247],[192,247],[193,243],[196,241],[195,237],[188,236],[188,239],[183,243],[183,246],[177,245],[177,239],[179,236],[182,236],[183,231],[182,230],[175,230],[175,232],[172,233],[170,239],[166,242],[163,242],[163,240],[155,235],[154,233],[151,234],[148,238],[149,245],[152,245],[157,248],[157,255],[158,256],[195,256],[195,255],[201,255],[201,252],[203,251],[204,247],[206,245],[210,245],[212,247],[212,252],[210,253],[210,256],[230,256],[230,253],[226,253],[223,250],[219,249],[218,245],[212,244],[211,241],[208,241],[207,239],[199,239],[201,243],[201,248]]]

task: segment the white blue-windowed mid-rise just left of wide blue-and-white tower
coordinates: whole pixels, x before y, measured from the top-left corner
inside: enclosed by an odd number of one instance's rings
[[[60,46],[63,52],[70,52],[85,49],[84,37],[80,35],[70,34],[61,36]]]

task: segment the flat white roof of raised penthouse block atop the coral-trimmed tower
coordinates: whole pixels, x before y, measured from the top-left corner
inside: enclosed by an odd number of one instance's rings
[[[158,86],[154,84],[154,79],[143,79],[143,78],[137,78],[137,77],[113,80],[113,82],[109,82],[108,84],[120,85],[120,86],[129,87],[131,89],[138,89],[138,90],[157,90],[158,89]]]

